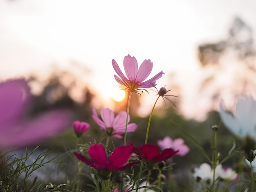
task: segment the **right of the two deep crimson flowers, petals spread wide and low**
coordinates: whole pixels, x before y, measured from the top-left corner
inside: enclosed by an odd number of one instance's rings
[[[178,152],[169,148],[159,153],[157,146],[151,144],[140,145],[139,148],[136,148],[132,143],[130,143],[130,147],[142,160],[146,161],[149,169],[152,169],[155,163],[169,159]]]

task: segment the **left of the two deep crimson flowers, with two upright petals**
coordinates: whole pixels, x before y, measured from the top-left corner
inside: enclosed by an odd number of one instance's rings
[[[88,152],[91,159],[87,159],[76,152],[74,153],[74,156],[87,165],[99,170],[101,174],[103,174],[101,176],[103,176],[105,179],[108,177],[110,172],[122,171],[137,163],[137,161],[127,163],[132,154],[132,149],[130,146],[121,146],[115,148],[110,157],[107,156],[105,148],[100,144],[90,146]]]

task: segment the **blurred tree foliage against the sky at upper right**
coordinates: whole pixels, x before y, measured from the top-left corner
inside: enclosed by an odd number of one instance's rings
[[[234,18],[229,29],[229,35],[225,40],[198,46],[200,64],[203,67],[212,64],[218,65],[223,54],[230,50],[235,52],[235,56],[239,60],[256,56],[252,29],[239,17]],[[252,67],[252,63],[246,62],[245,64]],[[255,66],[253,69],[255,70]]]

